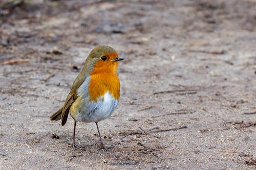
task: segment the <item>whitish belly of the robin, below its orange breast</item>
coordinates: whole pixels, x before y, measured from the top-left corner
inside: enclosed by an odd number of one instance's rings
[[[109,92],[106,92],[96,102],[89,102],[87,99],[83,99],[73,118],[77,122],[99,122],[110,117],[117,104],[118,100],[115,100]]]

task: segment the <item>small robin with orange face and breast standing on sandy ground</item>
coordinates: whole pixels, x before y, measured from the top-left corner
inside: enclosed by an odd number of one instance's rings
[[[98,122],[112,115],[119,101],[120,83],[117,77],[117,52],[110,46],[100,45],[91,51],[84,66],[76,77],[66,102],[62,108],[50,116],[51,120],[61,119],[61,125],[67,122],[68,115],[75,120],[73,147],[79,147],[75,142],[76,122],[95,122],[101,140]]]

